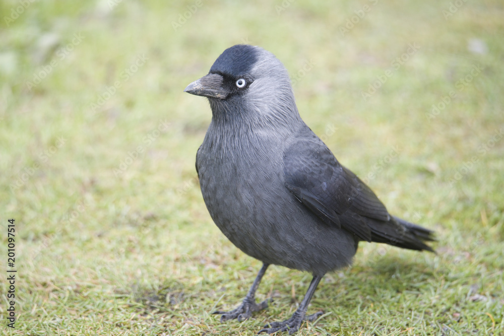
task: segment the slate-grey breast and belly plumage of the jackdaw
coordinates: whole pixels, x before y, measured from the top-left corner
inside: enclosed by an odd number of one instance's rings
[[[263,262],[316,274],[351,262],[355,238],[322,223],[285,188],[281,155],[243,142],[225,146],[204,143],[197,166],[208,211],[234,245]]]

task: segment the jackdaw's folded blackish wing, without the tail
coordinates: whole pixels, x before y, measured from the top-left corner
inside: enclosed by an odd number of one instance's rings
[[[385,221],[390,215],[374,192],[343,167],[324,143],[306,131],[284,154],[285,186],[326,223],[371,241],[366,218]]]

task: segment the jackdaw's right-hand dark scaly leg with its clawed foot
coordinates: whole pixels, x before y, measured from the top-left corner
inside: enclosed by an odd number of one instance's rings
[[[319,285],[319,282],[321,281],[322,277],[323,276],[313,276],[310,286],[308,287],[308,290],[304,295],[303,301],[301,301],[299,308],[297,308],[294,314],[292,314],[291,318],[281,322],[268,323],[264,326],[265,327],[264,329],[259,331],[259,333],[261,332],[274,333],[277,331],[288,331],[290,335],[299,329],[303,320],[314,321],[319,316],[321,316],[323,314],[322,311],[319,311],[317,313],[308,316],[305,315],[306,310],[308,309],[308,304],[311,301],[311,297],[313,296],[313,293],[315,293],[315,290],[317,289],[317,286]]]

